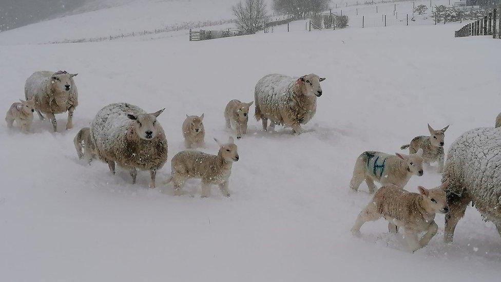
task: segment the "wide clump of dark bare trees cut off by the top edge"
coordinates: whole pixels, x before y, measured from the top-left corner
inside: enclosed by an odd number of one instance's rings
[[[329,9],[331,0],[273,0],[273,9],[280,14],[305,18],[309,13],[320,13]]]

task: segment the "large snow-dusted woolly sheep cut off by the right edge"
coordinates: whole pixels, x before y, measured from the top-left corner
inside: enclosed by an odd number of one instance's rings
[[[449,180],[444,240],[452,242],[456,224],[472,202],[501,236],[501,127],[467,131],[452,144],[442,180]]]

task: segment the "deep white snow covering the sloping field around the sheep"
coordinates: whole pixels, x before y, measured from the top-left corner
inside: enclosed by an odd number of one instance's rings
[[[400,145],[427,134],[427,123],[451,124],[446,146],[466,130],[493,125],[501,41],[454,39],[459,27],[0,46],[4,110],[24,97],[35,70],[78,72],[80,93],[71,130],[63,128],[65,115],[56,134],[36,117],[30,135],[0,126],[0,280],[499,281],[499,235],[471,206],[452,245],[442,241],[444,216],[437,215],[439,233],[414,254],[383,220],[365,224],[361,237],[349,232],[371,198],[365,184],[359,193],[348,187],[362,151],[401,152]],[[33,30],[0,33],[0,40],[37,36]],[[214,187],[201,199],[196,180],[185,187],[194,197],[173,196],[160,183],[183,149],[185,114],[205,113],[204,151],[216,153],[212,138],[230,135],[226,103],[252,101],[255,83],[273,72],[327,78],[307,133],[263,133],[251,119],[237,141],[230,198]],[[127,172],[112,176],[106,164],[87,166],[76,157],[78,129],[122,101],[150,112],[166,107],[158,120],[169,162],[155,190],[146,188],[146,172],[132,185]],[[439,180],[430,168],[407,189]]]

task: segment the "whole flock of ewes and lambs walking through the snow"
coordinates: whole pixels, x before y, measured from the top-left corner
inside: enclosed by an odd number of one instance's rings
[[[50,119],[57,130],[55,114],[68,112],[66,129],[72,128],[73,111],[78,106],[78,91],[73,78],[66,71],[38,71],[26,81],[26,101],[14,103],[7,111],[9,127],[14,121],[25,132],[30,130],[33,112],[40,119]],[[228,128],[235,128],[237,139],[247,132],[249,107],[254,103],[255,117],[262,121],[263,130],[274,130],[276,125],[291,127],[295,134],[302,133],[301,124],[309,122],[316,112],[317,97],[322,95],[320,78],[307,74],[299,78],[282,74],[268,74],[258,81],[253,102],[229,101],[224,109]],[[149,186],[155,187],[156,173],[167,161],[167,138],[157,117],[164,109],[148,113],[128,103],[114,103],[103,107],[90,127],[82,128],[74,138],[79,158],[88,163],[99,158],[105,161],[112,174],[115,165],[130,172],[136,182],[137,170],[149,171]],[[42,114],[43,113],[43,114]],[[205,128],[203,117],[188,116],[182,124],[186,150],[171,160],[171,176],[175,195],[183,194],[188,178],[201,179],[202,197],[210,195],[210,185],[219,185],[229,197],[228,179],[233,162],[239,160],[233,137],[226,143],[218,142],[217,155],[205,154],[194,148],[203,147]],[[268,125],[269,120],[269,125]],[[351,189],[357,191],[365,181],[369,192],[381,187],[373,199],[358,215],[352,232],[358,234],[364,222],[383,217],[388,220],[390,232],[402,229],[409,250],[425,247],[437,233],[436,213],[445,214],[445,241],[451,242],[458,220],[464,216],[466,206],[472,202],[486,220],[492,221],[501,235],[501,114],[496,127],[476,128],[461,135],[449,149],[444,164],[444,136],[449,126],[433,129],[430,136],[418,136],[410,144],[409,155],[382,152],[363,152],[356,160]],[[422,176],[422,164],[438,163],[442,183],[434,189],[418,186],[419,193],[403,190],[412,175]],[[419,238],[421,233],[425,234]]]

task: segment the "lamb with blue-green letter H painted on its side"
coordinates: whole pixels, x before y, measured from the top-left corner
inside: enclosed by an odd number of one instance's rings
[[[374,193],[374,181],[381,185],[396,185],[403,188],[412,175],[422,176],[422,149],[415,154],[404,155],[395,153],[396,156],[381,152],[363,152],[355,163],[350,188],[358,191],[358,187],[365,180],[369,192]]]

